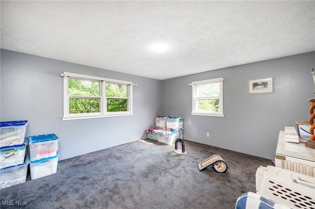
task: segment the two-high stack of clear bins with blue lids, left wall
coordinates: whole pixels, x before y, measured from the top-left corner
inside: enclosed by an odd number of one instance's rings
[[[52,133],[29,136],[31,179],[38,179],[57,172],[59,137]]]

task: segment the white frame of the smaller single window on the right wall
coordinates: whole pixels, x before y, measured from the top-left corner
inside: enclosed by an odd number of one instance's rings
[[[191,83],[192,85],[192,111],[191,115],[224,117],[223,114],[223,78],[213,78],[208,80],[199,80]],[[220,96],[217,97],[197,97],[197,86],[200,84],[210,84],[220,82]],[[189,84],[190,85],[190,84]],[[198,111],[197,101],[200,99],[219,99],[219,111]]]

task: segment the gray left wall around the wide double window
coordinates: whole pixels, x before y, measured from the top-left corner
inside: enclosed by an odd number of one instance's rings
[[[0,120],[28,120],[26,136],[56,133],[61,159],[145,138],[161,109],[161,81],[1,50]],[[62,72],[121,79],[133,87],[133,115],[63,121]]]

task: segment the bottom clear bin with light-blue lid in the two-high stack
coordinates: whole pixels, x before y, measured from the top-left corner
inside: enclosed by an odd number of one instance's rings
[[[57,172],[59,153],[54,157],[30,161],[31,179],[38,179]]]

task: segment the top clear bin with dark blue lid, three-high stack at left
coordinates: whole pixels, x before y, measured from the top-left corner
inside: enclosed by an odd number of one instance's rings
[[[22,144],[28,121],[0,122],[0,147]]]

